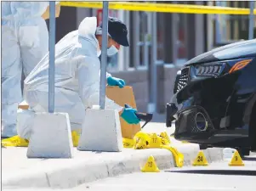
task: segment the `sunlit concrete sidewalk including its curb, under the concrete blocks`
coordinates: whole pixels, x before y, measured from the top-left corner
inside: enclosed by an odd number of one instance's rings
[[[145,132],[174,132],[163,123],[151,123]],[[185,156],[185,166],[191,166],[199,151],[197,144],[180,143],[171,138],[172,144]],[[152,154],[159,169],[174,167],[172,153],[167,149],[123,149],[120,153],[78,151],[73,159],[27,159],[26,148],[2,149],[3,188],[40,187],[71,188],[82,183],[140,171]],[[221,149],[205,151],[208,162],[222,160]]]

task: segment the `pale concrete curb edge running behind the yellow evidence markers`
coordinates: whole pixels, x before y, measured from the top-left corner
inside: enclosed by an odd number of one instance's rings
[[[184,166],[191,166],[198,154],[197,144],[179,144],[175,148],[184,154]],[[124,152],[125,151],[125,152]],[[203,150],[208,163],[223,160],[222,149]],[[174,157],[167,149],[124,149],[122,153],[110,153],[111,159],[58,160],[54,167],[44,165],[27,171],[20,171],[11,176],[3,174],[3,188],[73,188],[82,183],[90,183],[105,177],[115,177],[140,171],[145,161],[153,155],[160,170],[174,167]],[[119,157],[117,157],[119,156]],[[63,162],[64,161],[64,162]],[[56,166],[56,164],[58,164]]]

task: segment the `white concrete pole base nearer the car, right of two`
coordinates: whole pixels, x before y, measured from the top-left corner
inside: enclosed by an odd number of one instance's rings
[[[122,151],[122,132],[117,110],[86,110],[77,149]]]

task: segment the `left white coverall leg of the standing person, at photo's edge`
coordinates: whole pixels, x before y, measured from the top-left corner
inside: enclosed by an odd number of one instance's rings
[[[20,46],[14,27],[2,25],[2,138],[17,134],[16,118],[21,96]]]

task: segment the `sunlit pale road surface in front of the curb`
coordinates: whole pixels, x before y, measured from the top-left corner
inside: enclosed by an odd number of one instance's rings
[[[245,166],[230,167],[228,162],[203,167],[173,168],[159,173],[133,173],[108,177],[69,189],[18,189],[20,191],[253,191],[256,182],[256,161]],[[12,191],[11,189],[5,189]],[[13,189],[17,190],[17,189]]]

